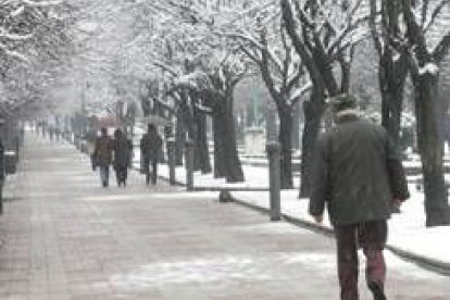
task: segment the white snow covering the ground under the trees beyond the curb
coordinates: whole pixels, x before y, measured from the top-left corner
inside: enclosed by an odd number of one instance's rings
[[[225,179],[214,179],[212,174],[195,174],[195,187],[203,188],[268,188],[268,170],[261,166],[243,165],[246,182],[226,184]],[[167,165],[161,164],[159,174],[168,177]],[[186,183],[186,172],[177,167],[176,179]],[[409,177],[414,179],[415,177]],[[295,186],[299,186],[299,178],[295,178]],[[426,228],[424,212],[424,195],[417,190],[415,184],[410,184],[411,199],[402,207],[401,214],[395,214],[389,221],[388,243],[398,249],[420,257],[442,261],[450,264],[450,226]],[[239,200],[258,207],[268,208],[268,191],[233,191]],[[282,191],[282,210],[285,214],[307,222],[313,222],[308,214],[308,199],[298,199],[298,190]],[[330,227],[328,220],[323,226]]]

